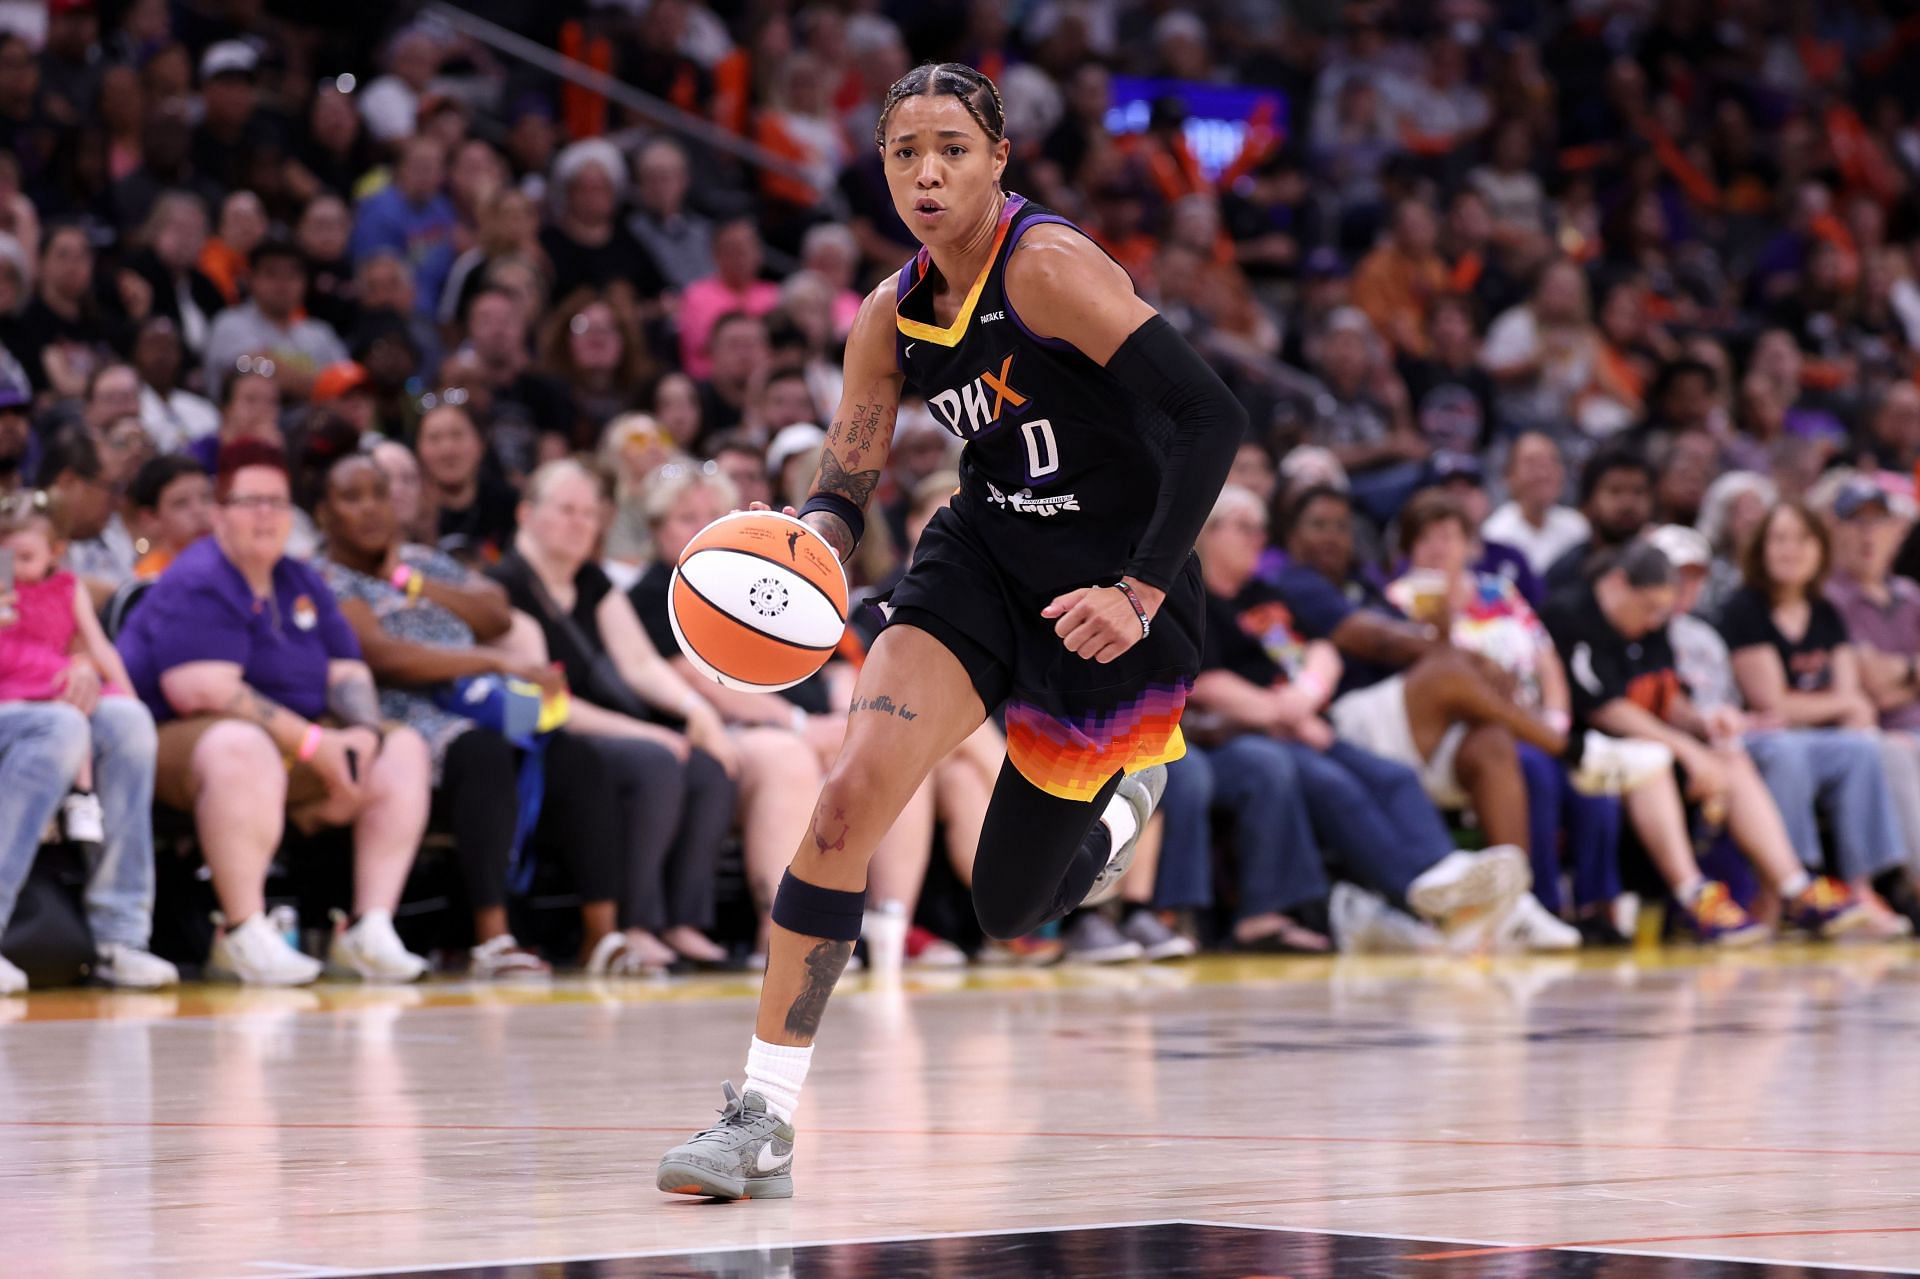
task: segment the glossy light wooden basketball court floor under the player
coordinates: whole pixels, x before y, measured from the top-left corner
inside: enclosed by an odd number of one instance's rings
[[[1916,960],[849,977],[749,1204],[653,1166],[753,981],[48,993],[0,1002],[0,1273],[1920,1273]]]

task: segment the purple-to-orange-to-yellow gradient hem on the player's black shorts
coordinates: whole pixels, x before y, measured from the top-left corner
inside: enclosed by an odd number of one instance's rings
[[[1148,684],[1114,711],[1062,720],[1018,695],[1006,703],[1006,757],[1027,782],[1060,799],[1091,801],[1116,772],[1187,755],[1181,711],[1190,682]]]

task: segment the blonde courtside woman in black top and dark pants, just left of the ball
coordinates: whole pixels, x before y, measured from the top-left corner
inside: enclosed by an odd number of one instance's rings
[[[707,937],[714,862],[733,822],[730,774],[741,751],[593,563],[599,522],[599,480],[580,463],[547,463],[526,482],[513,551],[490,570],[513,605],[545,632],[547,651],[564,666],[574,695],[570,728],[593,747],[620,805],[624,931],[601,939],[588,972],[662,968],[680,958],[714,964],[726,958]],[[684,722],[685,734],[660,724],[668,716]],[[797,845],[810,801],[774,801],[755,793],[745,776],[741,782],[747,812],[755,803],[803,805],[797,822],[781,832],[789,849]],[[795,791],[812,795],[804,785]]]

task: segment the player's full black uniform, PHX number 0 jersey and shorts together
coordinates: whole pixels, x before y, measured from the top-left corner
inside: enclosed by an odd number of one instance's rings
[[[922,534],[893,620],[939,638],[991,712],[1006,757],[1048,795],[1089,801],[1117,772],[1187,753],[1179,720],[1200,666],[1202,588],[1188,551],[1152,634],[1100,664],[1068,651],[1041,611],[1133,570],[1175,424],[1069,342],[1031,332],[1006,296],[1008,255],[1041,223],[1008,196],[993,255],[950,325],[935,323],[931,255],[900,269],[895,357],[906,388],[966,442],[960,492]],[[1210,497],[1212,499],[1212,497]],[[1142,578],[1150,580],[1150,578]]]

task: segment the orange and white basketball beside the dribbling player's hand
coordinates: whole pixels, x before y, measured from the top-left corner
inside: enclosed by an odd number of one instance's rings
[[[735,511],[680,555],[666,616],[695,670],[778,693],[833,657],[847,630],[847,574],[828,540],[791,515]]]

